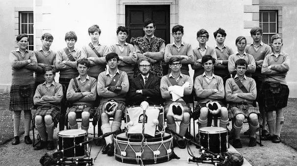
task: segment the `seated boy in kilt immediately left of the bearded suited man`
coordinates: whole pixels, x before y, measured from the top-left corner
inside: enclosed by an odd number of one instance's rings
[[[98,76],[97,91],[101,97],[100,104],[97,108],[98,118],[101,119],[101,129],[103,134],[113,132],[121,127],[122,115],[126,111],[126,93],[129,90],[128,75],[117,68],[119,56],[111,52],[106,55],[108,69]],[[109,117],[113,117],[110,126]],[[102,150],[103,154],[112,156],[114,145],[112,135],[105,137],[106,146]]]

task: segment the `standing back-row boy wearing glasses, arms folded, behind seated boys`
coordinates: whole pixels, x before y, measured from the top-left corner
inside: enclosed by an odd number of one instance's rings
[[[197,41],[199,42],[199,46],[193,49],[194,54],[194,63],[191,65],[192,69],[194,70],[194,78],[204,72],[204,68],[202,66],[201,60],[204,55],[211,55],[213,58],[216,59],[216,50],[213,47],[207,46],[206,42],[208,41],[209,34],[205,29],[200,29],[197,32]]]

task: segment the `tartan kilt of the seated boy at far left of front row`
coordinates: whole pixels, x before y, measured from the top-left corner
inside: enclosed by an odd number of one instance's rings
[[[37,107],[35,116],[37,115],[42,116],[43,118],[46,115],[51,115],[54,126],[56,127],[60,118],[60,109],[53,105],[41,105]]]

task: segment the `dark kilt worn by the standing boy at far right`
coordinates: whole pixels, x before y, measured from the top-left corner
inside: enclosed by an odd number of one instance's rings
[[[288,86],[281,84],[281,91],[278,94],[271,93],[269,87],[269,83],[265,82],[263,88],[264,110],[268,112],[286,107],[290,92]]]

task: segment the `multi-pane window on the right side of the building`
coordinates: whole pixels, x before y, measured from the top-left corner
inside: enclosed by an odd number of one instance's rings
[[[275,10],[260,10],[259,12],[259,23],[263,29],[262,41],[266,44],[270,43],[272,35],[277,33],[277,11]]]

